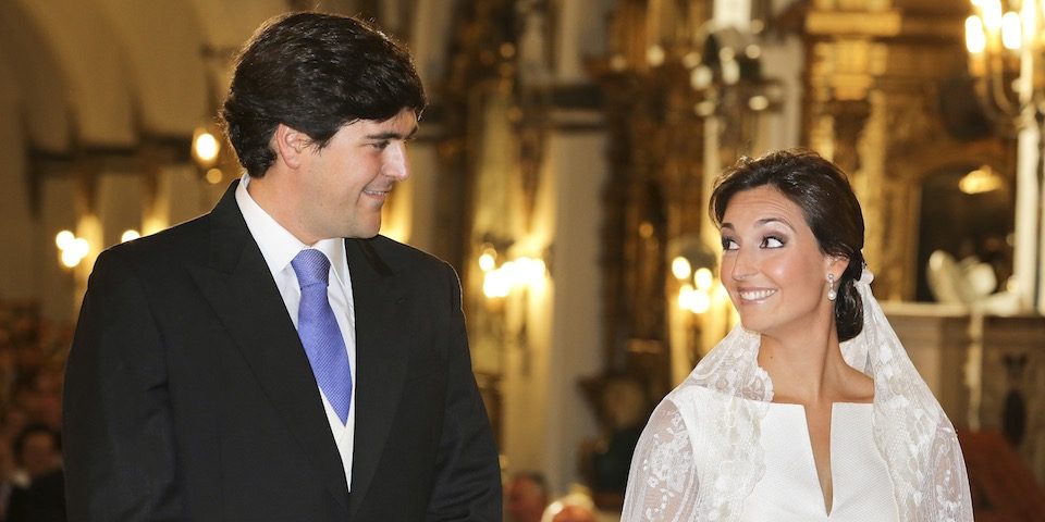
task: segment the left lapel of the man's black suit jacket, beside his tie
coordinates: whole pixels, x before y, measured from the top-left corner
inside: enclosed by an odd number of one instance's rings
[[[210,259],[192,266],[200,290],[236,341],[268,400],[347,509],[341,456],[286,306],[235,200],[236,183],[211,212]]]

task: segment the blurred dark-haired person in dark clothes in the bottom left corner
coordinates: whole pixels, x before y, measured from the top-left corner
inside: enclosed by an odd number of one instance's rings
[[[21,470],[8,504],[7,522],[64,522],[61,439],[45,424],[30,424],[14,440]]]

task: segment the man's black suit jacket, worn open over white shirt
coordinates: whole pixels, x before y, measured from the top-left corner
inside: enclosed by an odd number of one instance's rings
[[[352,494],[308,359],[235,200],[95,264],[65,376],[71,522],[500,520],[453,269],[347,239]]]

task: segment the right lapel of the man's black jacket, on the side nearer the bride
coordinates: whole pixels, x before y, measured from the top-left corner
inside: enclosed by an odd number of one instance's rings
[[[351,513],[366,498],[395,417],[406,373],[404,291],[370,243],[345,241],[356,315],[356,432]]]

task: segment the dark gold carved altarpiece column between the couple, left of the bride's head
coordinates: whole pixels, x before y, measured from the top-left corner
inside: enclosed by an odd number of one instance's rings
[[[590,65],[605,95],[611,140],[602,191],[607,374],[636,377],[660,397],[669,389],[668,244],[698,234],[703,221],[703,122],[693,112],[703,96],[690,87],[683,60],[699,52],[692,40],[706,9],[675,13],[672,26],[661,27],[644,3],[620,2],[610,53]],[[659,49],[653,63],[651,48]]]

